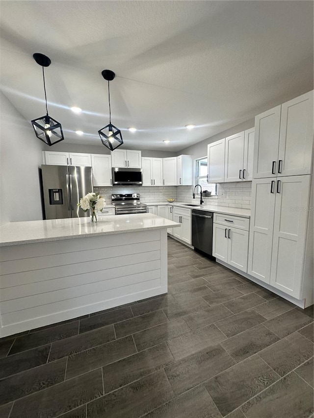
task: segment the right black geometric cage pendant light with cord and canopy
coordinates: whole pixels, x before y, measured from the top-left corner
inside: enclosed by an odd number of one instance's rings
[[[114,79],[116,74],[110,70],[103,70],[102,75],[108,81],[108,101],[109,101],[109,124],[98,131],[100,139],[105,147],[111,151],[120,147],[123,144],[122,134],[120,129],[111,123],[111,107],[110,107],[110,89],[109,82]]]

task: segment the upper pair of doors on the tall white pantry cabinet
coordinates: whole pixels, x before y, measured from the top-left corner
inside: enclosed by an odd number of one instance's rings
[[[253,178],[311,173],[313,91],[255,118]]]

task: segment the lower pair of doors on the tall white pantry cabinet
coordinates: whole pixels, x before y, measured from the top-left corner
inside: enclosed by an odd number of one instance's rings
[[[313,272],[310,277],[304,269],[310,181],[299,175],[252,184],[248,273],[296,299],[302,285],[313,282]]]

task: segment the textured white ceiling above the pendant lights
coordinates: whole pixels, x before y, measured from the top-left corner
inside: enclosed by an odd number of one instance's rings
[[[312,1],[1,0],[0,14],[3,93],[26,120],[44,115],[32,54],[48,55],[48,110],[68,143],[101,145],[104,69],[125,148],[180,150],[313,89]]]

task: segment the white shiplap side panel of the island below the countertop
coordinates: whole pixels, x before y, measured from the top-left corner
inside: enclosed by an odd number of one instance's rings
[[[2,248],[0,337],[167,292],[167,232]]]

